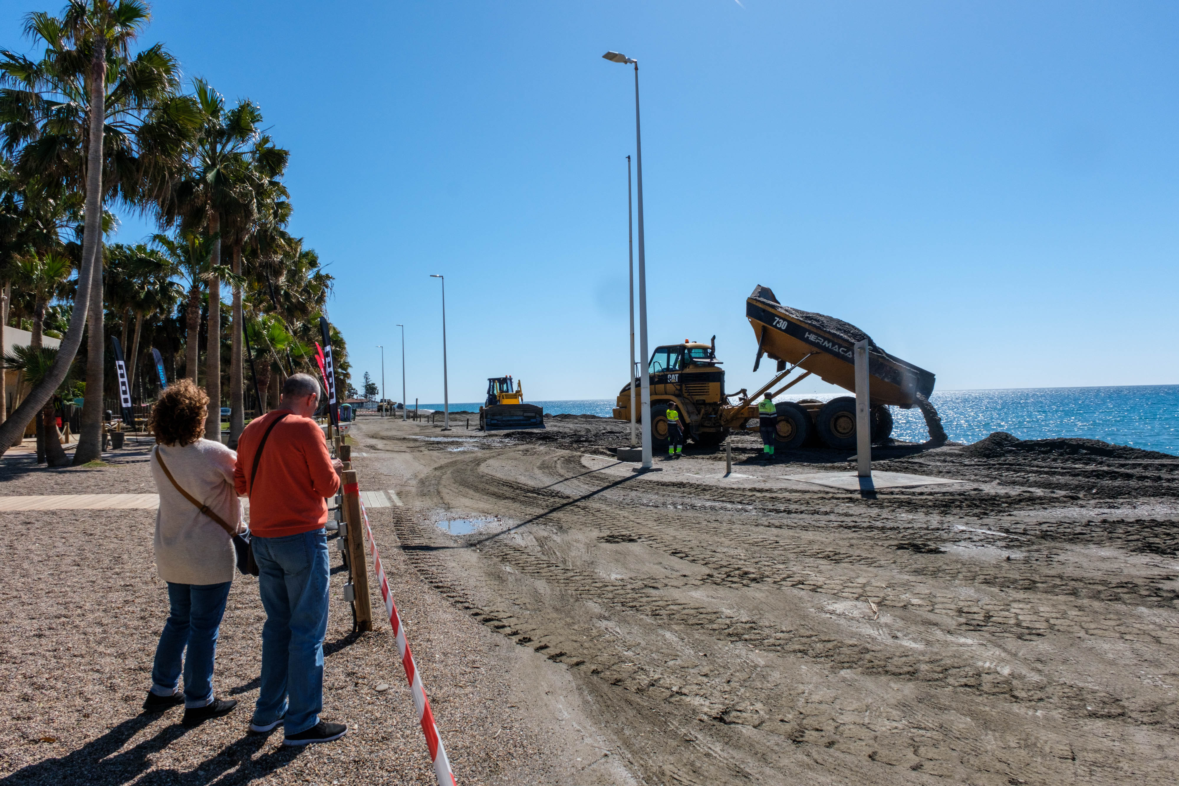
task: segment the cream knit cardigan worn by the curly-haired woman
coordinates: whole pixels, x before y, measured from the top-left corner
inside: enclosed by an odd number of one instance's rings
[[[184,447],[158,444],[156,450],[185,491],[230,524],[239,524],[242,506],[233,490],[236,453],[210,440],[198,440]],[[156,513],[156,570],[159,577],[177,584],[232,581],[236,557],[229,533],[176,490],[159,468],[156,450],[151,455],[151,474],[159,489],[159,510]]]

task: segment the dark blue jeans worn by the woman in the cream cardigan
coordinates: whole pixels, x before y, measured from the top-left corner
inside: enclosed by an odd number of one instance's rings
[[[220,584],[173,584],[167,582],[171,610],[156,646],[151,669],[151,692],[160,696],[176,693],[184,660],[184,706],[204,707],[213,700],[213,659],[217,632],[225,614],[225,600],[232,582]],[[184,650],[187,648],[187,656]]]

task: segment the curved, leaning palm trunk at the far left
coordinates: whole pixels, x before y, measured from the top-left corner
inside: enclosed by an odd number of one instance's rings
[[[103,121],[106,118],[106,39],[99,37],[91,53],[91,73],[86,87],[90,90],[90,139],[86,157],[86,229],[83,235],[83,266],[78,271],[78,291],[74,296],[73,313],[70,328],[61,339],[58,357],[53,368],[41,383],[29,391],[12,417],[0,424],[0,450],[7,450],[13,441],[25,430],[25,424],[45,407],[53,397],[53,391],[65,382],[66,374],[81,346],[83,330],[90,316],[91,289],[93,288],[93,270],[95,251],[101,242],[103,218]],[[101,394],[100,394],[101,396]],[[101,412],[98,412],[101,417]],[[101,427],[99,427],[101,428]],[[94,431],[94,444],[101,448],[101,436]],[[81,453],[81,441],[78,451]],[[99,451],[94,451],[95,454]],[[77,455],[77,454],[75,454]],[[88,461],[88,458],[86,460]]]

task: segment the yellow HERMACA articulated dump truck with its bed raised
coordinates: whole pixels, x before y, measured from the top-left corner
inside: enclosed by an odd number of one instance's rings
[[[725,392],[725,372],[717,359],[716,336],[707,344],[685,341],[656,348],[650,361],[651,432],[657,448],[667,444],[667,409],[674,405],[687,436],[700,444],[719,444],[733,430],[758,430],[758,402],[765,392],[778,396],[812,374],[824,382],[855,391],[852,346],[868,341],[869,401],[872,442],[882,443],[893,432],[889,407],[918,407],[929,428],[930,442],[946,441],[941,420],[929,404],[934,375],[889,355],[855,325],[822,313],[801,311],[778,303],[768,286],[753,289],[745,302],[745,316],[757,338],[753,371],[762,358],[777,362],[777,374],[750,395]],[[782,384],[793,371],[802,374]],[[631,384],[638,392],[639,381]],[[780,387],[778,387],[780,385]],[[614,417],[630,421],[631,385],[618,395]],[[638,404],[638,396],[635,396]],[[635,420],[641,415],[635,414]],[[825,404],[814,398],[777,404],[779,448],[826,445],[856,447],[856,399],[839,396]]]

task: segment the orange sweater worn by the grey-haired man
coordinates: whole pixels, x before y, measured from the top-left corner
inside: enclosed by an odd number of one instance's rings
[[[253,455],[270,423],[286,412],[266,440],[250,489]],[[250,497],[250,533],[259,537],[298,535],[323,527],[328,521],[330,497],[340,489],[340,476],[331,467],[331,455],[320,425],[290,410],[275,410],[251,421],[237,443],[233,486],[238,495]]]

